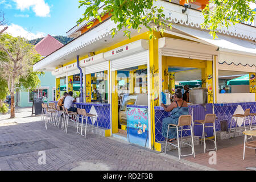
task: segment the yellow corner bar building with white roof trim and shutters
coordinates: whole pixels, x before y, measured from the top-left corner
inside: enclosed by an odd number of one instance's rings
[[[156,5],[165,7],[173,23],[172,30],[163,35],[155,31],[155,39],[149,39],[147,29],[142,28],[140,33],[130,30],[131,39],[122,32],[112,38],[116,25],[105,16],[92,30],[86,28],[86,22],[69,30],[67,35],[76,39],[39,61],[34,70],[52,71],[58,90],[61,82],[68,91],[82,82],[83,102],[76,105],[97,114],[106,137],[120,137],[160,151],[162,119],[168,117],[160,107],[162,92],[171,96],[179,86],[175,82],[181,86],[183,82],[199,82],[191,85],[189,110],[193,119],[216,113],[217,130],[220,120],[230,122],[229,115],[238,105],[254,111],[255,79],[233,88],[238,93],[228,88],[221,94],[220,90],[232,78],[246,74],[255,78],[256,29],[237,24],[229,30],[220,29],[218,39],[213,40],[200,28],[200,11],[190,9],[183,14],[183,6],[166,1]],[[243,88],[251,89],[246,92]],[[226,107],[231,108],[230,113]],[[137,133],[141,138],[134,137]]]

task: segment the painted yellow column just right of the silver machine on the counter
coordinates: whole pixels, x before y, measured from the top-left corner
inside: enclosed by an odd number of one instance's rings
[[[213,103],[213,72],[212,72],[212,61],[207,61],[206,72],[206,83],[208,89],[208,103]]]

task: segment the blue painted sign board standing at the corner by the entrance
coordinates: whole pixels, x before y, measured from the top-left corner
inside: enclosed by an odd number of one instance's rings
[[[148,109],[127,106],[127,138],[130,143],[148,147]]]

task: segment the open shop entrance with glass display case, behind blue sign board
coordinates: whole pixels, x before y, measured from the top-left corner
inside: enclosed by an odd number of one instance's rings
[[[147,65],[119,69],[115,71],[117,77],[117,120],[118,135],[127,138],[127,106],[147,106]],[[139,124],[139,123],[138,123]]]

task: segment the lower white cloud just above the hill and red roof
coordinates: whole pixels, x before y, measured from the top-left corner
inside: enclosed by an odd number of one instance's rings
[[[3,26],[0,26],[0,30],[2,30]],[[25,30],[23,27],[18,26],[17,24],[11,24],[9,28],[5,31],[6,33],[11,34],[12,36],[21,36],[23,38],[26,38],[28,40],[36,39],[36,38],[42,38],[46,36],[43,32],[37,32],[36,34],[33,34],[30,31]]]

